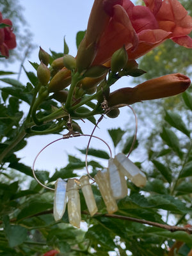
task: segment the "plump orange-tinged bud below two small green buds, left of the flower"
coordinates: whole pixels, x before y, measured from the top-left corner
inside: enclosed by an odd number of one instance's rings
[[[71,82],[71,72],[67,68],[62,68],[49,83],[49,92],[57,92],[66,88]]]

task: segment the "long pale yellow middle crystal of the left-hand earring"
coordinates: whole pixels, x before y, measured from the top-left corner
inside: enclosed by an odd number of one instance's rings
[[[77,179],[68,179],[67,196],[68,196],[68,220],[74,227],[80,228],[81,222],[81,205],[79,197],[79,185]]]

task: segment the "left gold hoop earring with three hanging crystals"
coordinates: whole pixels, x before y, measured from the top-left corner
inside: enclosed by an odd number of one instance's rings
[[[69,119],[70,120],[70,119]],[[35,163],[40,154],[45,150],[45,148],[49,147],[51,144],[56,143],[60,140],[65,140],[68,138],[76,138],[80,136],[92,136],[93,138],[96,138],[103,143],[106,144],[106,146],[109,149],[110,157],[112,157],[111,148],[109,147],[108,143],[106,141],[102,140],[102,138],[99,138],[95,135],[90,134],[80,134],[79,132],[74,132],[72,130],[72,125],[70,125],[71,121],[68,123],[69,132],[67,134],[64,134],[62,138],[59,138],[57,140],[52,141],[51,143],[47,144],[38,154],[36,155],[34,161],[33,161],[33,177],[35,178],[36,182],[40,184],[45,189],[49,189],[51,191],[54,191],[54,207],[53,207],[53,215],[54,219],[56,221],[61,220],[63,217],[63,214],[65,213],[66,204],[68,204],[68,219],[71,225],[79,228],[80,222],[81,222],[81,205],[80,205],[80,198],[79,198],[79,188],[82,189],[84,199],[86,201],[86,205],[88,207],[88,211],[90,212],[90,215],[93,216],[97,211],[97,205],[95,202],[95,198],[93,196],[93,191],[91,184],[89,182],[89,179],[92,179],[94,183],[95,179],[93,179],[88,172],[88,163],[87,163],[87,157],[86,157],[86,172],[88,176],[83,175],[79,180],[78,179],[68,179],[68,182],[65,182],[65,180],[59,178],[56,180],[55,188],[50,188],[40,182],[35,174]],[[68,198],[68,203],[67,203]]]

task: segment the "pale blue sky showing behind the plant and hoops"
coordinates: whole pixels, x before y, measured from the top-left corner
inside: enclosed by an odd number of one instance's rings
[[[70,49],[70,54],[76,56],[76,33],[77,31],[85,30],[88,22],[88,17],[92,8],[93,0],[84,1],[65,1],[65,0],[20,0],[20,4],[24,7],[23,15],[26,22],[29,24],[29,29],[33,33],[33,43],[37,45],[36,49],[31,54],[29,60],[38,62],[38,49],[41,46],[45,51],[49,52],[49,49],[56,52],[63,52],[63,37]],[[19,63],[20,64],[20,63]],[[17,64],[14,67],[16,71],[19,70]],[[25,61],[24,67],[28,71],[33,71],[33,67],[29,64],[28,60]],[[24,84],[28,82],[24,71],[22,71],[22,76],[20,81]],[[112,90],[123,86],[131,86],[130,78],[123,77],[121,82],[112,86]],[[28,106],[24,106],[24,111]],[[128,113],[128,114],[127,114]],[[104,138],[113,150],[113,145],[108,136],[107,129],[122,127],[126,128],[128,121],[128,115],[131,116],[132,126],[134,127],[134,115],[132,115],[131,110],[124,108],[121,110],[120,117],[114,119],[104,118],[102,124],[99,125],[99,129],[95,132],[95,135]],[[99,118],[99,116],[97,116]],[[93,129],[93,125],[90,122],[79,122],[83,132],[90,134]],[[132,131],[134,134],[134,131]],[[130,136],[132,135],[130,134]],[[60,138],[60,135],[49,135],[49,136],[33,136],[28,139],[28,145],[17,152],[17,156],[21,158],[22,163],[26,163],[32,166],[33,160],[36,154],[52,140]],[[54,172],[55,168],[60,168],[65,166],[67,163],[67,152],[69,154],[74,153],[74,148],[86,148],[86,138],[70,139],[70,141],[59,141],[51,147],[47,148],[36,161],[36,168],[38,170],[50,170]],[[105,145],[99,143],[99,141],[93,141],[90,147],[99,147],[103,150],[108,150]],[[100,146],[99,146],[100,145]],[[118,152],[117,152],[118,153]],[[51,156],[51,158],[50,158]],[[50,161],[48,161],[50,159]]]

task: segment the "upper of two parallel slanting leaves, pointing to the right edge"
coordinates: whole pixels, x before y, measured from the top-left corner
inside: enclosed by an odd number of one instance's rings
[[[177,113],[173,113],[172,111],[166,111],[166,110],[165,110],[165,113],[166,115],[164,117],[164,120],[166,120],[168,124],[172,125],[177,130],[183,132],[190,138],[190,131],[187,129],[180,115]]]

